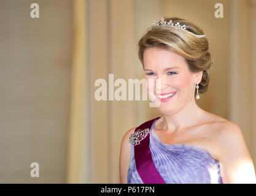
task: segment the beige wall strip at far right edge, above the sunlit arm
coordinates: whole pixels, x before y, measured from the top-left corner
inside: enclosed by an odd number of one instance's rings
[[[230,120],[241,127],[256,165],[256,1],[230,3]]]

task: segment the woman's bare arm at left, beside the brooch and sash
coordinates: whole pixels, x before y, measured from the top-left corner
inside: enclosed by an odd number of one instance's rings
[[[119,156],[119,172],[120,183],[127,183],[127,173],[130,163],[130,143],[129,138],[134,133],[136,127],[128,130],[123,136],[121,142],[120,156]]]

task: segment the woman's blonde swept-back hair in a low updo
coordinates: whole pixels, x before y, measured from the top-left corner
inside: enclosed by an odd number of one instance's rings
[[[172,20],[173,23],[179,22],[180,24],[185,25],[186,29],[194,34],[204,34],[203,30],[198,26],[182,18],[171,17],[165,18],[165,20]],[[139,40],[138,47],[138,56],[143,68],[143,54],[147,48],[161,48],[183,56],[186,59],[188,68],[191,72],[203,71],[202,80],[198,85],[198,92],[204,93],[207,91],[210,83],[208,70],[213,63],[213,60],[209,53],[208,39],[206,39],[206,37],[198,38],[182,29],[176,28],[149,28]]]

